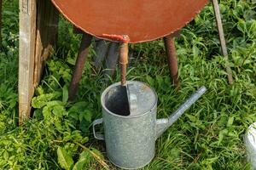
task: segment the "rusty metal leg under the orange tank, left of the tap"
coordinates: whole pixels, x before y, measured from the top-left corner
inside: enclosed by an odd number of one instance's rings
[[[77,94],[79,88],[79,81],[81,80],[84,63],[88,57],[89,47],[91,43],[91,36],[89,34],[83,34],[82,42],[79,48],[78,59],[73,71],[72,81],[70,82],[68,89],[68,99],[73,100]]]

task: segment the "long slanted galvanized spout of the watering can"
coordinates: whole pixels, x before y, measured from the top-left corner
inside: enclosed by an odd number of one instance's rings
[[[189,109],[191,105],[193,105],[197,99],[201,97],[202,94],[205,94],[207,91],[206,87],[199,88],[195,94],[192,94],[189,99],[187,99],[183,105],[180,105],[177,111],[174,111],[171,116],[164,119],[158,119],[156,120],[156,139],[160,137],[162,133],[164,133],[168,127],[171,127],[174,122],[177,121],[177,119],[183,115],[185,111]]]

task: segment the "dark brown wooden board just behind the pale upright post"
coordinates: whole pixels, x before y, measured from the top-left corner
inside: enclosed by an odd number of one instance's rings
[[[50,0],[38,0],[34,87],[42,76],[44,61],[53,51],[58,32],[59,15]]]

